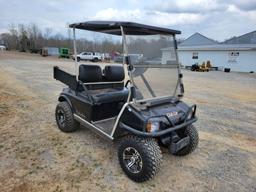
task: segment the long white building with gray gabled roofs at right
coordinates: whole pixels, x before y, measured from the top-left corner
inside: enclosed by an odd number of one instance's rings
[[[256,72],[256,31],[223,43],[195,33],[178,46],[178,52],[184,66],[210,61],[219,70]]]

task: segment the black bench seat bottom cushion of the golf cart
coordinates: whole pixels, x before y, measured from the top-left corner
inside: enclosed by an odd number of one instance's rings
[[[126,101],[129,94],[129,90],[126,87],[121,89],[90,90],[89,92],[95,104]]]

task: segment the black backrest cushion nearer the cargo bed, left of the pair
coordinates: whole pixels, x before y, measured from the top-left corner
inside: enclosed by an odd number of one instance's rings
[[[102,81],[102,70],[98,65],[80,65],[78,79],[84,83]]]

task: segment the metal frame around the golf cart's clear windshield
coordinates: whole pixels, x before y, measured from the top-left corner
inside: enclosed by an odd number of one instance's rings
[[[153,96],[151,98],[143,98],[143,99],[137,99],[136,96],[134,98],[132,98],[132,100],[130,98],[128,98],[128,101],[131,103],[141,103],[141,102],[150,102],[150,101],[154,101],[154,100],[162,100],[162,99],[166,99],[166,98],[173,98],[176,95],[178,97],[182,97],[183,93],[184,93],[184,89],[183,89],[183,83],[182,83],[182,74],[181,74],[181,69],[180,69],[180,63],[179,63],[179,58],[178,58],[178,53],[177,53],[177,41],[176,41],[176,37],[175,34],[168,34],[165,36],[171,36],[173,38],[173,48],[174,48],[174,53],[175,53],[175,57],[176,57],[176,61],[175,64],[164,64],[164,65],[160,65],[160,64],[147,64],[147,65],[136,65],[136,64],[131,64],[131,63],[127,63],[127,59],[129,58],[129,51],[128,51],[128,44],[127,44],[127,36],[130,35],[126,35],[125,34],[125,28],[124,27],[120,27],[121,28],[121,33],[122,33],[122,44],[123,44],[123,55],[124,55],[124,59],[123,59],[123,65],[127,64],[128,67],[128,76],[131,82],[131,87],[136,87],[135,86],[135,81],[134,81],[134,77],[133,77],[133,69],[134,67],[136,68],[143,68],[143,67],[147,67],[147,68],[176,68],[177,67],[177,83],[176,83],[176,87],[175,90],[173,92],[173,95],[171,94],[171,89],[170,89],[170,94],[169,95],[164,95],[164,96]],[[157,35],[162,35],[162,34],[157,34]],[[171,53],[170,53],[171,54]],[[129,60],[129,59],[128,59]],[[144,80],[143,80],[144,81]],[[148,88],[147,82],[144,81],[144,84],[146,85],[146,87]],[[178,88],[180,87],[180,94],[177,94],[178,92]],[[148,88],[148,91],[150,92],[150,88]],[[130,94],[131,95],[131,94]]]

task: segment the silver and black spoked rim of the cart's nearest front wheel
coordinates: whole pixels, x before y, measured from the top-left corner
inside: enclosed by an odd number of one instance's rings
[[[131,173],[139,173],[142,170],[142,158],[140,153],[133,147],[127,147],[123,151],[123,161]]]

